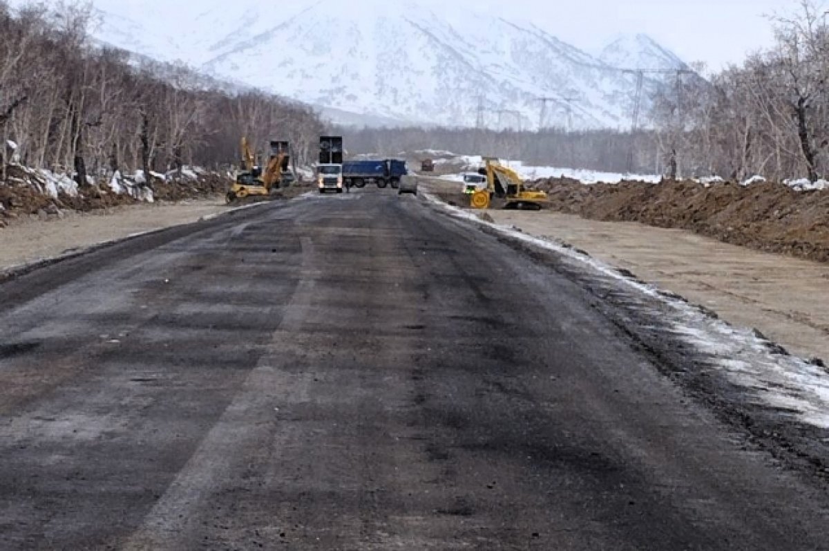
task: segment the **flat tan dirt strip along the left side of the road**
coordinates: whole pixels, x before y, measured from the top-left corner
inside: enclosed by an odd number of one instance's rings
[[[93,212],[63,212],[62,218],[22,217],[0,230],[0,272],[67,251],[84,249],[136,233],[197,222],[227,212],[221,196],[170,204],[139,203]]]

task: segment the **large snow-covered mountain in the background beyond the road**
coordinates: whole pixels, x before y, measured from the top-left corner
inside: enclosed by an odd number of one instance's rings
[[[202,0],[186,13],[176,2],[97,0],[95,36],[346,113],[351,122],[363,115],[490,128],[626,128],[636,76],[619,69],[684,66],[643,35],[591,56],[468,2],[283,4],[236,0],[229,13],[224,0]]]

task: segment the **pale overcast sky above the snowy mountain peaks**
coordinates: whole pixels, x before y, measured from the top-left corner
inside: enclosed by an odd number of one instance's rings
[[[18,2],[20,0],[17,0]],[[284,1],[284,0],[283,0]],[[349,2],[350,0],[341,0]],[[395,2],[399,0],[385,0]],[[181,22],[210,7],[226,10],[228,18],[241,17],[245,5],[273,0],[93,0],[95,5],[129,10],[158,20]],[[315,0],[286,2],[288,14]],[[768,15],[792,13],[798,0],[419,0],[438,10],[448,6],[489,9],[507,17],[521,17],[590,53],[619,33],[643,32],[675,51],[685,61],[705,61],[719,70],[739,63],[747,53],[773,42]],[[829,0],[817,0],[829,7]],[[149,9],[148,5],[157,9]],[[359,5],[359,4],[357,4]],[[116,7],[117,6],[117,7]],[[262,4],[259,3],[261,7]],[[822,10],[824,8],[821,8]],[[159,12],[167,12],[161,14]],[[159,25],[158,27],[164,27]],[[168,27],[169,28],[169,27]]]

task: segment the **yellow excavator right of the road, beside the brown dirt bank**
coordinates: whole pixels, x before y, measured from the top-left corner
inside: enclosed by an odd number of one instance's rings
[[[484,157],[484,168],[478,170],[487,177],[487,187],[479,189],[470,196],[473,208],[501,208],[525,211],[540,211],[547,204],[547,194],[527,190],[521,176],[509,167],[502,165],[494,157]]]

